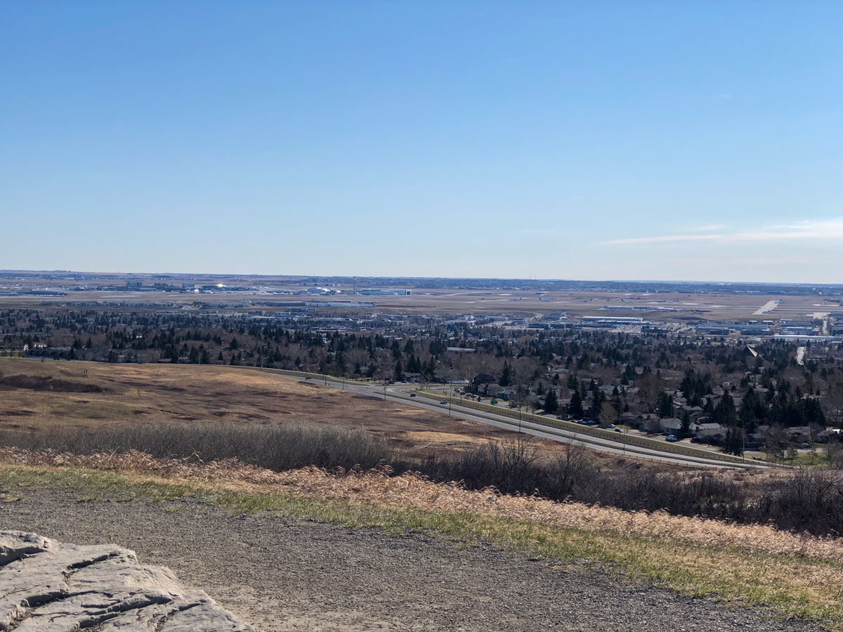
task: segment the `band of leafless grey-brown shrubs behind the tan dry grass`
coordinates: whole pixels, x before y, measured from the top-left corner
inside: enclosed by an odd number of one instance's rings
[[[562,447],[550,461],[532,442],[490,442],[456,457],[406,458],[365,431],[307,424],[136,424],[50,432],[0,431],[0,446],[90,455],[135,450],[154,458],[210,462],[234,458],[283,472],[372,469],[419,472],[465,489],[495,487],[507,495],[540,495],[626,511],[667,511],[814,535],[843,534],[843,471],[796,469],[749,476],[728,471],[601,470],[583,446]],[[745,479],[741,479],[744,477]]]

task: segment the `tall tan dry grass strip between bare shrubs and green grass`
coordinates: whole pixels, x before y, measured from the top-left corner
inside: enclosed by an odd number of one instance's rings
[[[698,517],[671,516],[664,511],[622,511],[577,502],[557,503],[536,496],[501,495],[494,489],[464,490],[454,483],[433,483],[416,474],[389,476],[379,471],[330,473],[316,468],[279,473],[232,459],[196,463],[186,459],[151,458],[137,452],[79,456],[31,453],[18,448],[0,448],[0,463],[150,474],[169,481],[210,485],[215,490],[250,493],[282,491],[284,494],[323,500],[465,512],[544,522],[556,527],[636,535],[658,541],[680,540],[703,547],[736,548],[843,563],[841,538],[789,533],[766,525],[738,525]],[[843,580],[843,575],[840,579]]]

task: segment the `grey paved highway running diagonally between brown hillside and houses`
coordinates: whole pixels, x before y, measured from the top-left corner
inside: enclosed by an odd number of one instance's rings
[[[294,379],[300,382],[305,381],[305,378],[298,376],[283,375],[283,378]],[[401,404],[408,404],[423,408],[427,410],[436,410],[439,413],[445,413],[469,421],[475,421],[488,426],[495,426],[505,430],[522,431],[534,437],[542,437],[550,439],[551,441],[558,441],[562,443],[581,443],[586,447],[599,450],[600,452],[626,455],[629,458],[649,458],[655,461],[663,461],[665,463],[678,463],[680,465],[688,465],[700,468],[722,468],[722,469],[747,469],[747,468],[764,468],[765,465],[760,463],[728,463],[718,461],[714,458],[705,458],[704,456],[687,456],[684,454],[675,454],[663,452],[658,449],[648,447],[638,447],[626,445],[622,437],[619,440],[612,441],[603,437],[592,437],[579,433],[577,431],[561,430],[554,426],[545,426],[544,424],[534,421],[521,421],[508,417],[506,415],[496,415],[493,412],[486,412],[485,410],[475,410],[467,406],[459,406],[459,404],[438,404],[432,399],[423,397],[411,397],[410,394],[405,393],[403,388],[406,386],[392,385],[384,388],[383,385],[373,384],[372,386],[333,382],[330,379],[325,381],[314,376],[310,382],[325,384],[333,388],[341,388],[352,393],[368,395],[370,397],[377,397],[379,399],[388,399],[390,401],[400,402]]]

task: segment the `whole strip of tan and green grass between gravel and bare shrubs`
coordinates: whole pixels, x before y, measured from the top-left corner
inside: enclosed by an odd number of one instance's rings
[[[305,468],[276,473],[235,461],[188,463],[142,453],[0,451],[0,477],[86,495],[196,495],[231,511],[277,509],[348,527],[421,529],[482,538],[558,560],[609,563],[697,597],[773,608],[843,631],[843,540],[662,512],[468,491],[412,474]]]

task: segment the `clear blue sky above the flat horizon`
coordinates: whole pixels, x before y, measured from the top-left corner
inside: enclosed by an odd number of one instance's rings
[[[840,24],[0,2],[0,269],[843,282]]]

